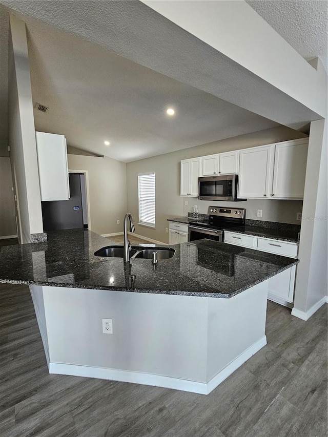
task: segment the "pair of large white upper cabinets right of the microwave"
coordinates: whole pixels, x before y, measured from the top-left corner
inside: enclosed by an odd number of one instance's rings
[[[302,199],[308,139],[240,151],[238,197]]]

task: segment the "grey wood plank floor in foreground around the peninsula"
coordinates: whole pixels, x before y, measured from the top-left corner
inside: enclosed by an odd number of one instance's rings
[[[208,396],[50,375],[28,287],[0,284],[0,436],[326,437],[327,305],[269,301],[267,338]]]

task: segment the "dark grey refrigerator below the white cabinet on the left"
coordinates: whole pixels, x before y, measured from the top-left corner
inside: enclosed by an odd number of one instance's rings
[[[41,202],[44,232],[88,227],[84,174],[69,173],[70,198]]]

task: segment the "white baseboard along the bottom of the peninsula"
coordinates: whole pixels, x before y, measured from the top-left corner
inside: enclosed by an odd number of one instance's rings
[[[152,373],[140,373],[128,370],[107,369],[103,367],[78,366],[75,364],[49,363],[49,373],[72,375],[87,378],[99,378],[120,382],[132,382],[156,387],[173,388],[175,390],[190,391],[192,393],[209,394],[222,381],[227,379],[238,367],[249,360],[254,353],[267,344],[267,337],[262,337],[239,357],[224,367],[208,383],[171,378]]]

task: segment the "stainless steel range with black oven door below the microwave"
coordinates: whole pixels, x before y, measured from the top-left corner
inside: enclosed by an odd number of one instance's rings
[[[209,206],[209,219],[192,221],[188,226],[188,241],[209,238],[223,241],[223,229],[245,224],[246,210],[244,208],[222,208]]]

